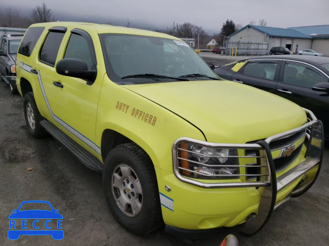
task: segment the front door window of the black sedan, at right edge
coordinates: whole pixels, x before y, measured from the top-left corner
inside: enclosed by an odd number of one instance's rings
[[[325,81],[327,79],[324,76],[307,65],[289,62],[284,66],[283,83],[312,88]]]

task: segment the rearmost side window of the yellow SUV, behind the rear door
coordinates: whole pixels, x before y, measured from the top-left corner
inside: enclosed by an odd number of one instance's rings
[[[22,40],[19,54],[30,56],[44,29],[44,27],[30,27]]]

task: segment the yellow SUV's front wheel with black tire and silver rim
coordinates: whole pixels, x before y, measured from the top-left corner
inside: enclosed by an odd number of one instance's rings
[[[102,179],[109,210],[121,226],[138,235],[162,226],[154,165],[140,147],[115,147],[106,156]]]

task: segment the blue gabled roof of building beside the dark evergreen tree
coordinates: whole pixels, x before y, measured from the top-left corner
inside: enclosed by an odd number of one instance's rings
[[[238,32],[241,32],[242,30],[244,30],[246,28],[250,28],[250,27],[254,28],[262,33],[266,33],[267,35],[272,36],[272,37],[291,37],[291,38],[307,38],[307,39],[312,38],[309,35],[306,35],[304,33],[298,32],[293,29],[284,29],[284,28],[276,28],[276,27],[261,27],[261,26],[253,26],[253,25],[247,25],[247,26],[241,28],[240,30],[237,30],[236,32],[232,33],[229,36],[232,36]]]

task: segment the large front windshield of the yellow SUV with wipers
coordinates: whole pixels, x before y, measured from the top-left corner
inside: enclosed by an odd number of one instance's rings
[[[157,82],[150,77],[125,77],[141,74],[167,76],[167,78],[157,77],[160,82],[173,81],[168,77],[190,74],[210,77],[191,79],[218,79],[205,61],[189,45],[180,40],[108,33],[100,34],[100,39],[107,74],[116,83]]]

